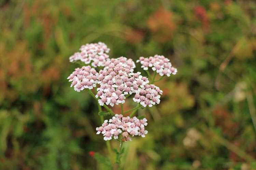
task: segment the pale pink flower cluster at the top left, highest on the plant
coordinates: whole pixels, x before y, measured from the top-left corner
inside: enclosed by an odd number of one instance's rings
[[[76,62],[81,60],[85,64],[91,63],[94,67],[104,66],[106,61],[109,61],[109,55],[105,54],[109,52],[109,48],[104,44],[99,42],[83,45],[80,48],[81,52],[76,52],[74,55],[69,57],[70,62]]]

